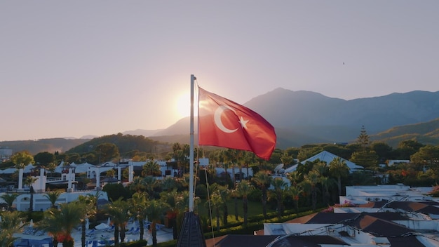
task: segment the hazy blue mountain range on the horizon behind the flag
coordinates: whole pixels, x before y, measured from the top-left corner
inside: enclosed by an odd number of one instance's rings
[[[353,142],[362,126],[371,140],[382,140],[392,146],[407,139],[417,139],[424,144],[439,143],[439,91],[342,100],[310,91],[276,88],[252,98],[244,106],[264,116],[275,127],[276,146],[282,149],[315,143]],[[189,117],[180,119],[161,130],[139,129],[122,133],[144,135],[161,142],[189,143],[189,120]],[[78,142],[81,141],[76,140],[71,145]],[[46,142],[44,145],[50,146]],[[11,142],[0,142],[0,146],[11,147]],[[53,148],[59,146],[53,145]]]

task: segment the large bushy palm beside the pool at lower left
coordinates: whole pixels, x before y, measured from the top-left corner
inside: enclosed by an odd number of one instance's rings
[[[54,241],[62,242],[63,247],[74,246],[72,230],[84,220],[86,208],[79,201],[60,204],[60,209],[50,208],[42,220],[47,232],[52,234]]]

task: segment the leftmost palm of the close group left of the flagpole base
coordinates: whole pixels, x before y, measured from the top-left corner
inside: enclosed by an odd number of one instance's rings
[[[104,206],[104,211],[107,212],[113,219],[114,223],[114,244],[119,246],[119,236],[121,242],[125,241],[126,222],[130,220],[130,204],[127,201],[122,201],[122,198],[107,203]],[[120,232],[119,232],[120,229]]]

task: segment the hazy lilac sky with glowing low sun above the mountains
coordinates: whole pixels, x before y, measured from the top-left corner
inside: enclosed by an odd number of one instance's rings
[[[438,91],[438,13],[436,0],[0,1],[0,140],[167,128],[189,114],[191,74],[241,104],[278,87]]]

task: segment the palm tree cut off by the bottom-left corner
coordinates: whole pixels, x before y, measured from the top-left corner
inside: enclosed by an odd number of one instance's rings
[[[2,213],[0,220],[0,246],[13,246],[15,241],[14,233],[19,232],[23,220],[19,211]]]

